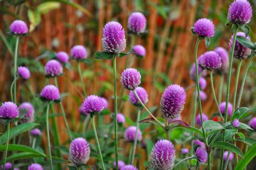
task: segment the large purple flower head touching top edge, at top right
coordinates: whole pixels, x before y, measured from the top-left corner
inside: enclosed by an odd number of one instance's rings
[[[228,8],[228,20],[233,24],[247,24],[252,18],[252,6],[247,0],[235,0]]]

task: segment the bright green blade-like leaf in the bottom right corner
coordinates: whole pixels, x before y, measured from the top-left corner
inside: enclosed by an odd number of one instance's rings
[[[245,169],[245,167],[251,162],[256,156],[256,144],[254,144],[246,153],[244,158],[240,159],[234,170]]]

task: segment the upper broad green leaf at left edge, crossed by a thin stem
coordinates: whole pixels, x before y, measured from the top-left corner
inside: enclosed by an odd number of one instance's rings
[[[38,123],[24,123],[10,129],[9,140],[16,137],[18,134],[21,134],[23,132],[26,132],[35,128],[38,125],[39,125]],[[6,138],[7,138],[7,132],[5,132],[4,134],[2,134],[2,136],[0,136],[0,144],[6,143]]]

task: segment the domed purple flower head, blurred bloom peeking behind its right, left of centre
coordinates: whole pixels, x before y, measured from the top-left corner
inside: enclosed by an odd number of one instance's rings
[[[83,114],[96,114],[104,109],[104,102],[102,98],[96,95],[87,96],[81,105]]]

